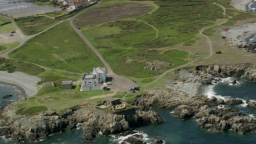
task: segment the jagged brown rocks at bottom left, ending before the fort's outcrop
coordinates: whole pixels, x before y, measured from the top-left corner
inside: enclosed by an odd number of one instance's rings
[[[22,100],[25,99],[22,98],[18,102]],[[25,116],[16,114],[16,110],[18,110],[15,106],[16,103],[3,108],[0,120],[0,135],[6,136],[6,138],[11,137],[16,142],[35,141],[53,133],[63,132],[65,129],[74,129],[81,117],[84,117],[85,119],[82,121],[85,121],[88,118],[86,116],[91,113],[88,105],[82,105],[67,109],[62,114],[57,114],[54,110],[47,110],[38,115]],[[76,113],[79,110],[85,111],[86,114]],[[72,118],[75,122],[71,120]]]

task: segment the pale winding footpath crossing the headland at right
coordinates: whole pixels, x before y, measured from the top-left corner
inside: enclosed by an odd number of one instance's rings
[[[216,3],[214,2],[214,4],[216,4]],[[224,12],[223,12],[223,15],[224,15],[224,16],[228,16],[228,15],[226,15],[226,8],[224,8],[223,6],[221,6],[221,5],[219,5],[219,4],[216,4],[216,5],[218,5],[218,6],[220,6],[220,7],[222,7],[222,8],[224,9]],[[229,20],[230,18],[232,18],[232,16],[228,16],[228,20]],[[225,20],[224,22],[221,22],[220,24],[223,24],[223,23],[227,22],[228,20]],[[220,24],[217,24],[217,25],[214,25],[214,26],[219,26]],[[214,26],[211,26],[211,28],[214,27]],[[146,85],[144,85],[144,86],[148,86],[148,85],[150,85],[150,84],[152,84],[152,83],[158,81],[160,78],[162,78],[164,75],[166,75],[166,73],[168,73],[168,72],[170,72],[170,71],[172,71],[172,70],[176,70],[176,69],[178,69],[178,68],[182,68],[182,67],[184,67],[184,66],[187,66],[187,65],[189,65],[189,64],[192,64],[192,63],[197,62],[197,61],[199,61],[199,60],[204,60],[204,59],[206,59],[206,58],[210,58],[210,57],[212,56],[212,53],[213,53],[213,52],[212,52],[212,42],[211,42],[211,40],[210,40],[206,35],[202,34],[203,31],[204,31],[204,30],[202,30],[202,31],[200,32],[200,34],[203,35],[203,36],[207,39],[207,41],[208,41],[208,43],[209,43],[209,47],[210,47],[210,55],[209,55],[209,56],[207,56],[207,57],[205,57],[205,58],[200,58],[200,59],[198,59],[198,60],[194,60],[194,61],[189,62],[189,63],[187,63],[187,64],[184,64],[184,65],[182,65],[182,66],[178,66],[178,67],[176,67],[176,68],[172,68],[172,69],[170,69],[170,70],[164,72],[164,73],[163,73],[161,76],[159,76],[156,80],[154,80],[154,81],[152,81],[152,82],[150,82],[150,83],[148,83],[148,84],[146,84]],[[141,86],[141,87],[144,87],[144,86]]]

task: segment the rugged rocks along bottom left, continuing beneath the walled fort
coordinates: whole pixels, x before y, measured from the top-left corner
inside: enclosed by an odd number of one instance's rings
[[[99,132],[103,135],[119,133],[128,135],[132,133],[131,128],[164,122],[156,112],[151,110],[136,110],[130,114],[96,114],[90,104],[74,106],[62,113],[47,110],[35,116],[16,114],[18,110],[16,104],[24,100],[26,98],[21,98],[2,108],[0,136],[12,138],[16,142],[36,142],[54,133],[74,130],[78,124],[82,124],[84,132],[82,142],[89,142],[94,141]],[[126,143],[133,143],[134,139],[136,138],[131,137],[130,140],[126,140]],[[162,143],[158,140],[155,144]]]

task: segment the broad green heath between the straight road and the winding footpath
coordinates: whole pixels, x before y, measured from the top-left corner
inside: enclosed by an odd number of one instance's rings
[[[107,0],[80,15],[75,22],[82,27],[83,34],[98,48],[116,74],[137,78],[152,77],[196,60],[195,56],[198,54],[205,55],[175,50],[170,46],[183,42],[186,42],[185,46],[191,46],[196,43],[196,39],[191,39],[202,28],[226,18],[222,15],[222,8],[213,2],[214,0],[160,0],[155,2],[159,6],[156,8],[153,2]],[[119,7],[130,11],[136,8],[142,10],[139,15],[132,12],[122,14]],[[112,14],[112,8],[119,15],[114,15],[115,19],[106,20],[102,15]],[[154,11],[151,12],[152,10]],[[148,14],[149,12],[151,13]],[[157,71],[144,69],[146,62],[156,61],[169,65],[162,65]]]

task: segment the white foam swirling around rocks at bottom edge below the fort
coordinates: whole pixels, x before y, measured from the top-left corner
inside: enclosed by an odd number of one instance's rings
[[[115,136],[115,135],[112,135],[112,140],[111,141],[117,141],[118,144],[121,144],[123,142],[123,140],[131,137],[131,136],[134,136],[134,135],[140,135],[142,137],[141,138],[138,138],[139,140],[141,140],[143,143],[145,142],[146,144],[151,144],[152,142],[150,142],[151,140],[153,140],[153,138],[149,138],[148,134],[145,134],[141,131],[135,131],[136,133],[135,134],[129,134],[127,136]]]

